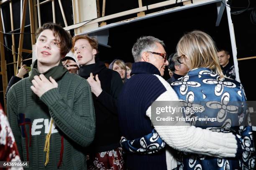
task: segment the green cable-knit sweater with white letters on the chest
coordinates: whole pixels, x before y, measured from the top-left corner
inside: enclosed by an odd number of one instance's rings
[[[95,135],[95,114],[90,85],[62,65],[43,73],[53,77],[58,88],[40,98],[31,90],[38,75],[36,65],[30,77],[17,82],[8,92],[7,113],[20,158],[29,161],[29,169],[86,170],[87,147]],[[44,166],[44,145],[51,130],[49,163]]]

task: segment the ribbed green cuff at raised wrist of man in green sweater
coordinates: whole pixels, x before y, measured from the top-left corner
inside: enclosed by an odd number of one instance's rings
[[[59,95],[58,88],[48,90],[40,97],[40,100],[46,105],[54,105],[54,103],[60,99],[61,96]]]

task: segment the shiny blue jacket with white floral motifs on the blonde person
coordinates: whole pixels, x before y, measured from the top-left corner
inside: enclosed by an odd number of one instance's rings
[[[171,84],[179,99],[187,107],[204,108],[204,112],[186,117],[213,117],[214,122],[190,122],[192,125],[220,133],[234,133],[242,143],[239,158],[213,158],[204,155],[179,153],[179,167],[186,170],[235,170],[253,169],[255,158],[251,126],[247,123],[248,109],[243,86],[236,80],[222,78],[209,68],[190,70],[188,74]]]

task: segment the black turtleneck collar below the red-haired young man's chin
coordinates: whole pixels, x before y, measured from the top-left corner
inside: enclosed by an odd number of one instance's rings
[[[79,76],[87,79],[88,77],[90,77],[91,72],[93,75],[97,75],[104,68],[106,68],[106,66],[105,66],[104,62],[101,62],[101,61],[97,61],[94,64],[82,65],[82,66],[80,66]]]

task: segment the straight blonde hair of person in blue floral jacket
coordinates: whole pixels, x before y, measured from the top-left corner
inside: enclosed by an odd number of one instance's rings
[[[215,42],[207,33],[195,30],[183,35],[177,44],[177,52],[179,56],[187,56],[185,64],[189,70],[207,67],[225,77],[219,64]]]

